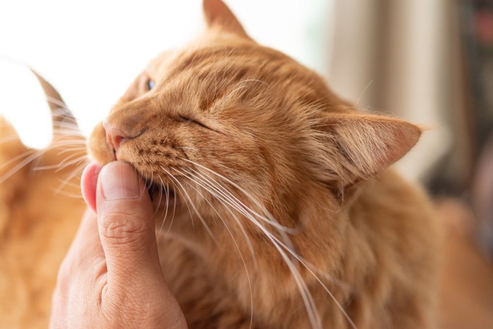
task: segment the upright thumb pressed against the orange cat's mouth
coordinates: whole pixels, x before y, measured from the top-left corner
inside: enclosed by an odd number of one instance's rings
[[[151,199],[135,168],[121,161],[104,166],[96,204],[109,286],[128,287],[149,275],[162,278]]]

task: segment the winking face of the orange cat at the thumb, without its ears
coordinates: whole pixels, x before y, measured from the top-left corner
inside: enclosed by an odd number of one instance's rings
[[[277,51],[210,31],[195,48],[151,61],[94,129],[90,152],[101,163],[128,161],[199,204],[208,179],[230,185],[219,175],[261,202],[277,198],[306,173],[296,159],[307,123],[293,104],[309,100],[293,94],[303,87],[294,78],[318,79]]]

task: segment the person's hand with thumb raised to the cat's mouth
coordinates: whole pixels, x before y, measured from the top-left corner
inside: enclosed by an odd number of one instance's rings
[[[158,259],[149,194],[115,161],[82,175],[87,209],[58,272],[51,328],[187,328]]]

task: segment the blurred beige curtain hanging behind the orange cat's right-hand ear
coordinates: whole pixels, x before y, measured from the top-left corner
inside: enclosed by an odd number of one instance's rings
[[[463,133],[461,58],[455,1],[339,0],[328,80],[371,111],[389,113],[427,130],[397,166],[425,179],[451,149],[467,154]],[[452,133],[454,132],[454,133]],[[454,170],[466,175],[468,156]]]

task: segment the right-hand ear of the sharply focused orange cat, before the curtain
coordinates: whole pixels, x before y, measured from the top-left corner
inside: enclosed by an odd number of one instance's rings
[[[404,120],[375,115],[331,114],[324,121],[335,147],[332,166],[342,185],[370,178],[392,165],[416,145],[422,132]]]

